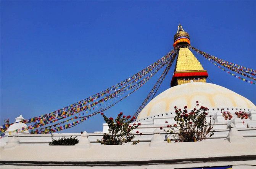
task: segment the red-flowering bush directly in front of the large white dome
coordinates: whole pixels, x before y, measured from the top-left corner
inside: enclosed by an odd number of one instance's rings
[[[201,106],[198,108],[199,104],[196,101],[196,107],[188,113],[187,106],[184,110],[178,109],[176,106],[175,113],[176,116],[174,120],[176,124],[170,125],[167,123],[167,130],[164,131],[167,134],[168,139],[170,137],[175,142],[193,142],[202,141],[208,137],[213,136],[213,124],[211,123],[211,115],[209,123],[206,122],[206,115],[209,109],[207,107]],[[163,130],[163,127],[160,128]]]

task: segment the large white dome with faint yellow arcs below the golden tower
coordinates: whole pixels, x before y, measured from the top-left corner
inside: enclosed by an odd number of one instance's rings
[[[200,106],[208,109],[239,108],[256,110],[256,106],[245,97],[237,93],[210,83],[191,82],[171,87],[156,96],[138,114],[137,120],[142,118],[174,112],[174,106],[183,109],[193,109],[199,101]]]

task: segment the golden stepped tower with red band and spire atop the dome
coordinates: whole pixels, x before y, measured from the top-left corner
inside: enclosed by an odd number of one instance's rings
[[[201,63],[189,50],[190,37],[181,25],[178,26],[177,33],[174,35],[174,47],[179,46],[174,74],[172,76],[171,87],[190,82],[206,82],[208,77],[207,70],[204,70]]]

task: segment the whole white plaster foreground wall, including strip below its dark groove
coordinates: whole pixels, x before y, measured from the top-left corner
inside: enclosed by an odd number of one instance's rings
[[[75,146],[15,146],[0,147],[2,168],[94,167],[113,168],[183,168],[200,166],[256,166],[256,139],[241,142],[227,140],[165,143],[161,147],[149,144]],[[64,163],[63,163],[64,162]],[[11,166],[6,165],[11,164]],[[17,164],[19,163],[19,164]],[[37,166],[38,165],[38,166]],[[78,166],[79,165],[79,166]],[[253,167],[251,167],[253,168]]]

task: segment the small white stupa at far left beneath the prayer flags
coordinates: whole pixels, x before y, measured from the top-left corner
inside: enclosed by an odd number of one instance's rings
[[[15,123],[13,123],[12,125],[10,125],[10,127],[5,131],[5,135],[12,135],[14,133],[18,133],[18,134],[30,134],[29,130],[25,130],[23,132],[21,132],[21,129],[27,128],[27,125],[25,123],[23,123],[23,121],[25,120],[25,118],[22,117],[22,115],[20,115],[19,117],[15,118]],[[15,130],[19,129],[18,132],[15,132]],[[11,132],[11,134],[10,134]]]

